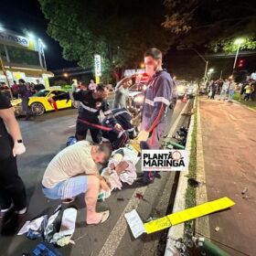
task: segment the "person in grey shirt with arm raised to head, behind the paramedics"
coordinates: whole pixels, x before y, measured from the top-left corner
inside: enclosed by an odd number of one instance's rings
[[[120,80],[114,89],[113,108],[126,108],[126,100],[129,95],[129,87],[132,85],[131,77]]]

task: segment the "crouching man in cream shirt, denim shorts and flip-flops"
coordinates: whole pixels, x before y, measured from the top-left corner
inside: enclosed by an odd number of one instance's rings
[[[87,141],[72,144],[59,152],[48,164],[42,180],[42,190],[50,199],[67,200],[85,193],[87,224],[101,224],[110,211],[96,212],[100,190],[109,185],[100,176],[97,164],[104,164],[111,155],[106,145],[91,145]]]

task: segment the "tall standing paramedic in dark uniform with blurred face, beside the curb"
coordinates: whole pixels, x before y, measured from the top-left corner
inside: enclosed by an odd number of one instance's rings
[[[145,91],[141,132],[137,138],[142,149],[159,149],[167,127],[166,114],[173,98],[173,80],[162,69],[162,52],[157,48],[150,48],[144,53],[144,66],[150,80]],[[153,182],[154,178],[155,172],[144,172],[143,184]]]

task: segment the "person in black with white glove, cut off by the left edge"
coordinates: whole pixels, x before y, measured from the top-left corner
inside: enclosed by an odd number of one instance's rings
[[[8,132],[7,132],[7,129]],[[12,206],[17,214],[27,211],[24,183],[18,176],[16,155],[25,153],[26,148],[12,105],[0,92],[0,207],[6,213]]]

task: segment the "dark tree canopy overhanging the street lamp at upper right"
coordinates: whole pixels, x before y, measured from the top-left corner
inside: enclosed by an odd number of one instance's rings
[[[165,0],[168,15],[162,24],[171,43],[234,51],[234,39],[246,38],[242,48],[256,48],[255,1]]]

